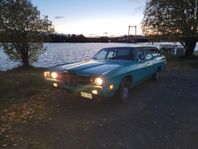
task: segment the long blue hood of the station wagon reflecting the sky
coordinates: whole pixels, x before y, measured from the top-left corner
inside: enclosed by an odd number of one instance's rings
[[[105,75],[108,72],[118,69],[120,67],[131,64],[131,61],[118,61],[118,60],[89,60],[83,62],[63,64],[53,67],[53,71],[65,71],[81,75]]]

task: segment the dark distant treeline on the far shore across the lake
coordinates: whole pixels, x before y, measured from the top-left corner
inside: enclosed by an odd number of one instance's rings
[[[10,37],[12,34],[10,34]],[[141,36],[141,35],[124,35],[120,37],[85,37],[84,35],[75,35],[75,34],[55,34],[55,33],[41,33],[41,36],[44,39],[44,42],[120,42],[120,43],[137,43],[137,42],[176,42],[172,39],[169,39],[168,36],[162,35],[150,35],[150,36]],[[11,38],[5,37],[4,33],[0,32],[0,42],[10,42]],[[198,36],[197,36],[198,41]]]

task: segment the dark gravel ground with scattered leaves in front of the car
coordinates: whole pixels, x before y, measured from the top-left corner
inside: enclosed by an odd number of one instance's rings
[[[198,71],[169,71],[159,82],[148,80],[131,90],[125,105],[57,93],[46,99],[46,120],[15,127],[11,148],[198,148]]]

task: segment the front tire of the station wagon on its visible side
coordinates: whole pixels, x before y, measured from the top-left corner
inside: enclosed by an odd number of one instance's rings
[[[124,79],[120,84],[119,100],[121,103],[126,103],[129,98],[129,89],[130,89],[129,82],[130,82],[129,79]]]

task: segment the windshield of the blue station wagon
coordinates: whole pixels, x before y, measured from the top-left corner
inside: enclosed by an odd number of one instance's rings
[[[100,50],[94,57],[97,60],[133,60],[133,49],[131,48],[107,48]]]

